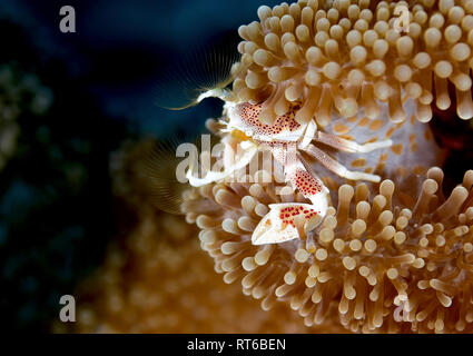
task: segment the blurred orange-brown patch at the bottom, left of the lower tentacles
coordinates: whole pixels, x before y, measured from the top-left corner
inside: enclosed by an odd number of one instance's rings
[[[309,329],[285,305],[273,314],[226,285],[181,217],[141,214],[137,228],[108,249],[102,267],[78,290],[75,333],[343,332],[333,318]],[[63,324],[53,330],[66,332]]]

